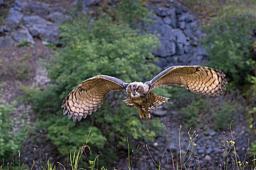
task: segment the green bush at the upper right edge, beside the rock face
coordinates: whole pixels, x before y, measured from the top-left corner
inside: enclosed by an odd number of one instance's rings
[[[229,5],[212,25],[203,26],[207,35],[202,43],[210,54],[208,65],[226,73],[229,88],[248,83],[248,75],[253,74],[255,61],[251,58],[250,47],[255,21],[250,11]]]

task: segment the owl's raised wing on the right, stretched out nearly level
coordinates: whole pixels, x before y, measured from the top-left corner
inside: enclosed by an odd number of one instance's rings
[[[214,68],[173,66],[163,70],[146,84],[151,89],[161,85],[179,85],[197,94],[219,96],[226,89],[227,81],[225,74]]]

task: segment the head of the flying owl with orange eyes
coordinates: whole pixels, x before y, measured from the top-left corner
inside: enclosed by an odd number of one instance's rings
[[[127,86],[126,93],[131,98],[138,98],[145,95],[145,90],[144,83],[133,82]]]

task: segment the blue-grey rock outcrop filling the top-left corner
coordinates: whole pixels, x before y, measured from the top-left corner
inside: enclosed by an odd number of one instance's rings
[[[5,1],[0,1],[0,6],[4,5]],[[59,24],[69,17],[66,9],[36,0],[15,0],[8,5],[11,7],[4,18],[5,25],[0,26],[0,47],[24,40],[34,44],[34,37],[58,42]]]

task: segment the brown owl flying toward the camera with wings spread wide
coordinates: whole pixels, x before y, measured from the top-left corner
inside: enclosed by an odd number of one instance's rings
[[[140,119],[150,119],[150,110],[156,109],[169,98],[161,97],[150,90],[161,85],[184,86],[190,91],[219,96],[226,89],[225,74],[217,69],[203,66],[173,66],[155,76],[152,80],[126,83],[116,77],[97,75],[83,81],[73,89],[63,100],[61,107],[63,115],[68,114],[68,119],[73,117],[80,121],[91,115],[99,108],[108,93],[111,91],[125,90],[128,98],[123,100],[128,105],[133,105],[139,110]]]

